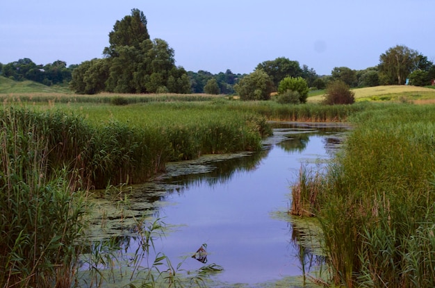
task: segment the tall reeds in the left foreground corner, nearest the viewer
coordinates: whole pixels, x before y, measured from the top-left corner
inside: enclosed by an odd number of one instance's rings
[[[49,172],[49,127],[21,113],[0,119],[0,285],[71,287],[85,192],[66,171]]]

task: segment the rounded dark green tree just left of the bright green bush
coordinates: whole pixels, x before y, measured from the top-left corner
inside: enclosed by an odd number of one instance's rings
[[[274,85],[265,71],[256,69],[242,78],[234,89],[241,100],[269,100]]]

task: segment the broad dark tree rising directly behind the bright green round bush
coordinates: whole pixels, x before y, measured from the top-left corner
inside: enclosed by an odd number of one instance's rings
[[[275,60],[261,62],[256,69],[262,69],[270,76],[274,84],[274,89],[277,89],[279,82],[286,77],[302,76],[302,69],[299,62],[290,61],[288,58],[279,57]]]

